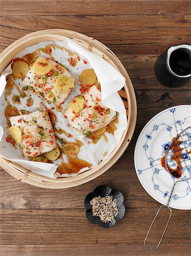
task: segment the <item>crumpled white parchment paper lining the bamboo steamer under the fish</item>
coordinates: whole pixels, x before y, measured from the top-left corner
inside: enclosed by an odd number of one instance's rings
[[[101,58],[100,56],[97,56],[95,53],[92,53],[91,51],[84,49],[83,47],[79,46],[79,44],[73,42],[72,40],[65,40],[63,42],[60,42],[60,41],[41,42],[34,46],[28,47],[27,49],[20,52],[15,57],[22,57],[27,53],[32,53],[36,49],[44,48],[45,46],[48,46],[48,45],[50,45],[50,47],[54,46],[54,47],[51,47],[52,48],[51,55],[54,58],[54,60],[58,61],[58,63],[65,66],[70,71],[70,73],[75,77],[75,88],[72,90],[72,93],[63,104],[62,106],[63,110],[66,108],[67,104],[75,96],[80,94],[80,86],[79,86],[80,83],[78,79],[78,76],[80,75],[80,73],[84,69],[94,68],[94,71],[97,75],[97,79],[101,84],[101,96],[102,96],[104,105],[107,106],[108,108],[116,110],[117,112],[118,124],[116,124],[117,130],[114,131],[114,136],[107,132],[105,133],[105,135],[107,135],[108,137],[108,142],[105,142],[105,139],[103,137],[96,144],[88,143],[88,141],[90,141],[90,139],[88,138],[82,139],[83,146],[80,147],[78,158],[86,160],[87,162],[91,163],[92,167],[97,166],[97,164],[99,164],[101,160],[104,160],[109,156],[109,154],[111,154],[111,152],[120,142],[120,139],[127,126],[125,106],[121,100],[121,97],[117,93],[117,91],[122,89],[122,87],[124,86],[125,78],[121,75],[120,72],[118,72],[115,68],[113,68],[113,66],[109,64],[107,61],[105,61],[103,58]],[[62,47],[66,49],[70,49],[72,52],[80,56],[80,61],[78,61],[75,67],[71,67],[69,61],[67,60],[69,57],[71,57],[69,55],[69,51],[66,51]],[[41,52],[41,56],[51,57],[48,54],[45,54],[43,52]],[[58,164],[61,163],[61,159],[54,161],[54,163],[52,164],[31,162],[27,160],[27,158],[23,158],[22,152],[20,151],[19,147],[15,150],[10,143],[6,142],[6,137],[9,134],[9,131],[7,127],[7,121],[5,118],[5,108],[7,103],[5,101],[4,92],[5,92],[5,86],[6,86],[6,76],[9,75],[10,73],[12,73],[11,64],[2,72],[0,77],[0,85],[1,85],[0,86],[0,97],[1,97],[0,98],[0,117],[1,117],[0,119],[0,156],[8,160],[11,160],[14,163],[19,164],[20,166],[27,168],[28,170],[31,170],[35,174],[39,174],[45,177],[50,177],[52,179],[56,179],[56,177],[66,177],[66,176],[77,175],[77,174],[71,174],[71,175],[58,174],[58,172],[56,172],[56,169],[58,167]],[[19,85],[20,89],[22,89],[22,79],[17,79],[15,82],[16,84]],[[19,94],[16,88],[12,90],[12,94],[14,93]],[[20,98],[22,103],[20,105],[15,104],[15,106],[19,110],[26,109],[30,112],[33,112],[39,108],[42,98],[37,98],[33,93],[27,92],[27,94],[29,97],[33,98],[33,101],[34,101],[33,106],[29,108],[26,106],[26,100],[28,97]],[[7,100],[9,100],[10,103],[12,104],[12,95],[8,96]],[[49,105],[45,103],[45,106],[50,109],[54,105],[53,104]],[[73,135],[72,138],[67,138],[65,134],[58,134],[59,137],[63,139],[67,139],[67,141],[70,141],[70,142],[75,142],[75,138],[77,138],[77,135],[75,135],[73,130],[71,130],[70,127],[67,126],[67,119],[63,118],[63,114],[60,112],[57,112],[55,109],[52,111],[54,112],[54,114],[56,114],[56,117],[57,117],[55,127],[57,129],[61,127],[61,129]],[[64,162],[67,162],[66,155],[63,155],[63,160]],[[83,168],[82,170],[79,171],[79,173],[87,170],[88,170],[87,167]]]

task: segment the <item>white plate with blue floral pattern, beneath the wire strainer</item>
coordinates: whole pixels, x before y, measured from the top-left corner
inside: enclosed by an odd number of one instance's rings
[[[189,126],[191,105],[175,106],[155,115],[143,128],[137,140],[134,154],[137,176],[147,193],[161,204],[167,203],[175,178],[161,166],[160,159],[177,132],[180,133]],[[189,135],[191,139],[191,134]],[[189,154],[188,157],[190,156]],[[189,177],[188,173],[187,176]],[[176,184],[169,206],[175,209],[191,209],[191,180]]]

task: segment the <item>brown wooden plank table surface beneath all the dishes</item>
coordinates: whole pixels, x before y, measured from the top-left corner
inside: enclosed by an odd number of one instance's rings
[[[92,36],[112,49],[133,82],[138,103],[133,139],[110,170],[79,187],[48,190],[21,183],[0,171],[0,255],[190,255],[190,211],[172,210],[162,245],[143,246],[160,206],[139,183],[134,146],[147,121],[165,108],[190,104],[190,84],[161,85],[154,63],[172,44],[190,43],[190,1],[0,0],[0,51],[37,30],[64,28]],[[124,194],[126,214],[112,229],[86,220],[84,197],[108,184]],[[164,226],[156,226],[155,245]]]

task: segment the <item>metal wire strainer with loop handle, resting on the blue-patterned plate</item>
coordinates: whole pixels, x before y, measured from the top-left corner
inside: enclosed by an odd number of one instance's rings
[[[180,146],[183,146],[183,147],[180,147]],[[158,247],[160,246],[160,243],[163,240],[164,234],[168,228],[168,224],[169,224],[169,221],[171,220],[171,215],[172,215],[172,210],[169,207],[169,202],[171,201],[172,193],[175,189],[176,184],[180,183],[182,181],[188,182],[188,180],[191,179],[191,173],[190,173],[191,159],[189,157],[189,154],[191,154],[191,150],[189,151],[188,148],[191,148],[191,126],[186,128],[185,130],[181,131],[180,134],[177,134],[176,137],[171,142],[171,144],[169,144],[167,150],[165,151],[165,155],[164,155],[165,170],[167,170],[167,172],[170,175],[172,175],[173,177],[178,178],[178,179],[173,180],[173,187],[171,189],[171,193],[169,194],[167,204],[162,205],[158,209],[158,211],[156,212],[155,217],[150,225],[150,228],[148,229],[148,232],[146,234],[144,245],[150,251],[154,251],[154,250],[158,249]],[[186,154],[185,153],[182,154],[183,150],[186,151]],[[172,167],[175,167],[175,164],[176,164],[176,169],[172,168]],[[186,172],[186,174],[185,174],[186,170],[188,172]],[[188,176],[186,176],[186,175],[188,175]],[[168,221],[167,221],[167,224],[165,225],[164,232],[162,234],[162,237],[160,238],[158,245],[155,248],[150,248],[146,245],[147,237],[148,237],[148,234],[150,233],[151,228],[156,220],[156,217],[158,216],[158,214],[162,208],[168,208],[168,210],[169,210]]]

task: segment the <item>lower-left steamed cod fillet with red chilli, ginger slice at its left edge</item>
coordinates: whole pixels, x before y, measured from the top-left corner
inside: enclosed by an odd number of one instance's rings
[[[10,117],[10,122],[11,126],[19,127],[22,133],[19,146],[25,156],[35,157],[56,147],[52,123],[47,112],[16,115]]]

